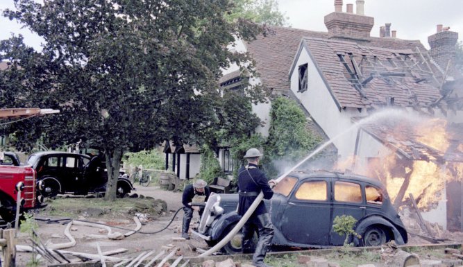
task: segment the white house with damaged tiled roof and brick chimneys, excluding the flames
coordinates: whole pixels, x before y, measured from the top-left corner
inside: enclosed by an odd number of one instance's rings
[[[260,83],[273,94],[300,103],[308,121],[334,144],[339,162],[355,156],[351,171],[360,170],[375,158],[391,154],[407,158],[409,153],[409,164],[430,161],[444,166],[448,151],[432,150],[426,141],[409,140],[401,144],[419,146],[406,152],[394,146],[390,135],[380,135],[369,127],[376,123],[376,117],[399,120],[394,112],[380,113],[387,107],[448,123],[463,122],[461,94],[456,93],[462,90],[461,83],[455,83],[461,76],[454,68],[458,34],[438,25],[437,32],[428,37],[429,50],[418,40],[397,38],[391,24],[380,27],[380,37],[373,37],[374,18],[364,15],[363,0],[356,1],[355,14],[352,4],[343,12],[342,0],[334,2],[335,12],[324,18],[328,32],[270,27],[266,37],[250,43],[239,41],[237,49],[249,52],[255,60],[259,77],[251,83]],[[236,71],[232,68],[226,73],[229,82]],[[269,105],[255,105],[253,109],[263,122],[257,131],[267,135]],[[394,132],[395,128],[383,130]],[[461,153],[456,150],[455,158]],[[444,216],[434,214],[428,216],[430,220],[447,218],[441,205],[436,209]],[[444,221],[431,222],[446,227]]]

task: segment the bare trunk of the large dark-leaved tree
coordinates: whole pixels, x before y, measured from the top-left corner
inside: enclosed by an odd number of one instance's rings
[[[117,179],[121,166],[122,150],[105,149],[106,169],[108,170],[108,184],[106,184],[105,200],[115,200],[117,196]]]

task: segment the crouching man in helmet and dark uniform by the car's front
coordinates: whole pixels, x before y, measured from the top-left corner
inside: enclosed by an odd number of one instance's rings
[[[193,212],[199,212],[200,217],[204,212],[204,207],[192,206],[193,198],[195,196],[205,196],[204,202],[208,201],[210,190],[207,185],[207,182],[198,179],[193,184],[188,184],[185,190],[183,190],[182,203],[185,214],[183,214],[182,237],[185,239],[190,239],[188,229],[193,218]]]

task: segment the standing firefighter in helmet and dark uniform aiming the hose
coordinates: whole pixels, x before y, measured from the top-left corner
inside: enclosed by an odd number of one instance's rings
[[[264,193],[265,199],[270,199],[273,196],[271,188],[275,186],[276,182],[267,180],[265,174],[258,169],[261,156],[262,153],[257,148],[250,148],[244,155],[248,164],[238,170],[238,214],[240,216],[246,213],[260,191]],[[256,230],[259,233],[259,241],[253,255],[253,266],[268,267],[264,264],[264,258],[273,238],[273,225],[267,208],[262,201],[251,214],[249,220],[243,225],[243,253],[252,252],[252,238]]]

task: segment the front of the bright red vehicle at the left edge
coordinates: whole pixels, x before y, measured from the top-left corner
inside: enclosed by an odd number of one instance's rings
[[[17,189],[21,188],[20,212],[42,207],[42,196],[37,197],[31,166],[0,166],[0,216],[3,221],[15,220]]]

